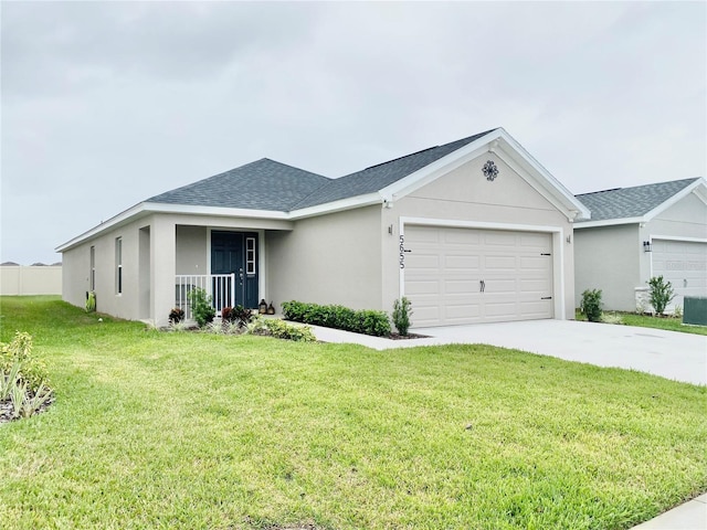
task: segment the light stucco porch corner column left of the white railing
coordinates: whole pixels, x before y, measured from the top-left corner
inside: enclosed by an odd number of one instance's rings
[[[155,215],[150,231],[150,284],[152,301],[150,318],[155,326],[169,324],[175,307],[175,275],[177,274],[177,226],[163,215]]]

